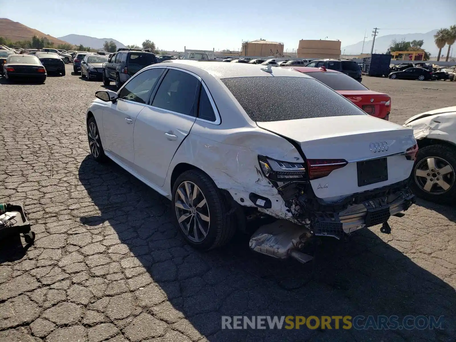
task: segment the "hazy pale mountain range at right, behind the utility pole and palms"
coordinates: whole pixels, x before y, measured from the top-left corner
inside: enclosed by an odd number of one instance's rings
[[[391,45],[392,40],[405,40],[405,41],[413,41],[413,40],[423,40],[423,49],[429,52],[432,56],[436,56],[439,53],[439,49],[435,46],[434,42],[434,35],[437,30],[432,30],[426,33],[407,33],[407,34],[392,34],[386,36],[378,36],[375,38],[374,43],[374,52],[377,50],[377,53],[384,53]],[[364,49],[363,49],[363,41],[359,41],[356,44],[347,45],[345,47],[341,47],[342,54],[345,55],[358,55],[363,50],[364,53],[370,53],[370,49],[372,47],[372,40],[364,42]],[[446,51],[448,46],[442,49]],[[345,50],[345,53],[343,52]]]

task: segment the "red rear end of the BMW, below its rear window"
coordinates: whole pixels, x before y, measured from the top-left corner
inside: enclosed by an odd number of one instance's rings
[[[378,93],[372,90],[337,90],[345,98],[348,98],[367,114],[376,118],[383,118],[390,111],[390,106],[386,109],[385,103],[390,101],[390,97],[385,93]]]

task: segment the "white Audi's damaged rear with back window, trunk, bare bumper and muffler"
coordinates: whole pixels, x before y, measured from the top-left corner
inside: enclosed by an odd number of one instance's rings
[[[414,203],[409,175],[418,146],[412,130],[365,114],[310,78],[222,81],[261,130],[287,140],[300,155],[280,160],[265,146],[258,153],[259,170],[286,209],[273,210],[278,199],[266,194],[252,192],[250,201],[260,212],[290,223],[260,227],[251,249],[306,262],[311,257],[300,249],[310,238],[342,238],[377,224],[390,233],[389,218]]]

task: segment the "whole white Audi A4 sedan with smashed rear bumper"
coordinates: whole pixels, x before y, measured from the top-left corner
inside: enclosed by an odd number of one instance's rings
[[[96,97],[87,109],[93,158],[170,199],[195,248],[226,244],[267,214],[288,222],[260,227],[250,248],[300,259],[312,236],[376,224],[389,233],[389,217],[415,199],[413,130],[294,70],[170,61]]]

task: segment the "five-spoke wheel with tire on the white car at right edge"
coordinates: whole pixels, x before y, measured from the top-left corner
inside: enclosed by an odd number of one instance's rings
[[[413,192],[428,201],[448,203],[456,199],[456,149],[430,145],[418,150],[413,169]]]

